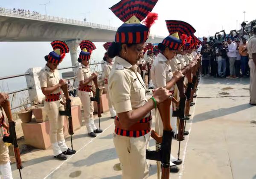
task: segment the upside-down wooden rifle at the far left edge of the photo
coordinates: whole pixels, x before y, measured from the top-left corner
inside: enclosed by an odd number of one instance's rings
[[[18,142],[17,142],[17,136],[16,136],[16,130],[15,130],[15,121],[13,121],[12,118],[12,111],[11,111],[11,106],[10,106],[10,101],[7,100],[3,103],[2,105],[3,110],[6,113],[6,116],[8,118],[8,122],[9,122],[9,136],[5,136],[3,138],[4,142],[8,142],[8,143],[12,143],[13,145],[13,150],[14,150],[14,155],[15,155],[15,160],[16,160],[16,166],[17,169],[20,170],[23,168],[22,164],[21,164],[21,159],[20,159],[20,149],[18,146]],[[21,172],[20,172],[20,179],[22,179],[21,177]]]

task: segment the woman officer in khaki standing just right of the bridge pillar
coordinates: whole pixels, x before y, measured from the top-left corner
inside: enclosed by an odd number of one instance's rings
[[[96,133],[102,133],[99,130],[93,120],[93,101],[90,100],[93,97],[93,79],[97,79],[97,73],[92,73],[89,67],[90,55],[96,46],[89,40],[83,40],[79,44],[81,52],[78,58],[78,62],[81,63],[77,71],[77,78],[79,81],[78,95],[81,99],[84,109],[84,121],[87,127],[87,132],[90,137],[96,137]]]

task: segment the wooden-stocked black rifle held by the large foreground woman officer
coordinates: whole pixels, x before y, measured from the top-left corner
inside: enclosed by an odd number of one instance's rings
[[[166,101],[158,104],[158,110],[163,121],[163,137],[160,137],[154,130],[152,130],[151,137],[158,143],[161,143],[159,150],[147,150],[146,158],[149,160],[161,161],[162,176],[161,179],[169,179],[170,174],[170,156],[172,147],[172,127],[170,124],[170,105],[172,99],[168,98]]]

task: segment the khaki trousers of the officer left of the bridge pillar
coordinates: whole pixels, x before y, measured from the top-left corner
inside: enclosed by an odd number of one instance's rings
[[[50,140],[54,156],[57,156],[68,149],[63,134],[64,116],[59,115],[59,111],[64,110],[64,106],[60,104],[60,101],[61,100],[51,102],[46,101],[43,110],[43,113],[48,115],[50,122]]]

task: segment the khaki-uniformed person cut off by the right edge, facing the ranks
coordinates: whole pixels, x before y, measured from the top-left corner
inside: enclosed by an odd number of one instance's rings
[[[253,26],[253,36],[247,45],[250,67],[250,104],[256,105],[256,26]]]

